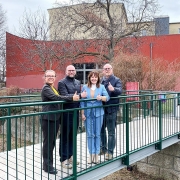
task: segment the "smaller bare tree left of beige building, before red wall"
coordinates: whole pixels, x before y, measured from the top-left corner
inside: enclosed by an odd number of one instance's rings
[[[10,62],[11,67],[14,67],[13,71],[17,70],[15,73],[17,76],[32,70],[36,72],[44,72],[47,69],[56,70],[64,64],[64,46],[66,45],[64,41],[58,43],[48,41],[51,26],[46,14],[40,9],[36,12],[24,11],[18,36],[26,38],[27,43],[22,43],[21,38],[16,38],[13,45],[9,45],[16,47],[23,57],[23,61],[12,58]],[[14,54],[12,53],[11,56]],[[20,72],[19,69],[21,69]]]

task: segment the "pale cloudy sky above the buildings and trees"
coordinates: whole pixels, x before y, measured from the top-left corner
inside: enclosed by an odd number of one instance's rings
[[[170,22],[180,22],[179,0],[158,0],[158,2],[161,6],[159,15],[168,15]],[[18,30],[19,20],[25,9],[31,12],[41,9],[47,12],[54,3],[55,0],[0,0],[0,4],[7,12],[8,32],[13,33],[15,29]]]

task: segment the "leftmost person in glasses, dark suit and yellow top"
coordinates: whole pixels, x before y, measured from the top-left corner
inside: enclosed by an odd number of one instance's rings
[[[61,96],[54,88],[56,73],[53,70],[47,70],[44,75],[45,84],[41,91],[42,102],[50,101],[78,101],[79,95],[76,93],[71,96]],[[53,167],[53,149],[56,143],[56,136],[59,130],[60,113],[51,113],[49,111],[59,110],[59,104],[43,104],[42,112],[47,112],[41,116],[41,126],[43,132],[43,170],[49,174],[57,174]]]

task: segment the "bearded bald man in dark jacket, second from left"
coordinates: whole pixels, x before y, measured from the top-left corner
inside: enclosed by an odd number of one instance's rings
[[[73,65],[66,67],[66,77],[58,82],[60,95],[71,96],[77,92],[80,97],[86,97],[86,92],[81,93],[81,83],[75,79],[76,69]],[[63,109],[79,108],[79,102],[66,103]],[[79,126],[79,113],[77,113],[77,128]],[[63,113],[61,120],[61,134],[59,144],[59,155],[62,166],[67,169],[72,168],[73,163],[73,112]]]

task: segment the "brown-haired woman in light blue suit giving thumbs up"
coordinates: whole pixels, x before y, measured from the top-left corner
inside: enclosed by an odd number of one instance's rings
[[[86,128],[88,150],[90,154],[88,163],[98,163],[100,132],[104,115],[102,101],[109,100],[109,95],[104,85],[100,84],[99,72],[92,71],[89,73],[88,83],[83,86],[82,92],[83,91],[87,92],[87,99],[93,99],[92,101],[81,102],[82,108],[88,107],[88,109],[81,111],[82,120]]]

